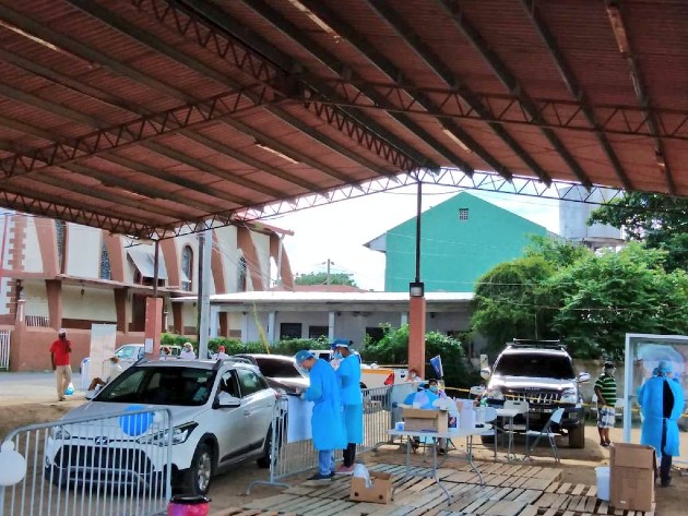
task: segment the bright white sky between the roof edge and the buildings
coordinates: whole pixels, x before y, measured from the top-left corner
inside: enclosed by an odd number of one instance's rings
[[[505,209],[559,232],[559,202],[553,199],[460,190],[455,187],[424,184],[423,211],[467,191]],[[353,274],[356,284],[368,290],[384,290],[384,254],[364,244],[416,214],[416,185],[365,195],[265,219],[265,223],[294,231],[284,238],[294,274],[324,272]]]

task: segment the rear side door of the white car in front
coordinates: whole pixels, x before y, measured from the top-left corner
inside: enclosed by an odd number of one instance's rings
[[[275,404],[274,392],[268,386],[265,379],[251,369],[237,369],[239,388],[241,389],[241,412],[244,431],[251,439],[250,451],[260,448],[272,422]]]

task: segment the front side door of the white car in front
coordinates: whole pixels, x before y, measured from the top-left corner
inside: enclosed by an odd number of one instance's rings
[[[236,371],[228,370],[221,374],[217,393],[225,392],[235,398],[241,398],[239,379]],[[244,400],[241,401],[244,404]],[[217,408],[213,410],[215,435],[217,436],[220,464],[233,463],[248,449],[248,439],[245,432],[246,417],[244,408]]]

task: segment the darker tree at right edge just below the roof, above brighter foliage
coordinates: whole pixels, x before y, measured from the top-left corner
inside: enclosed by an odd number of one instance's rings
[[[688,271],[688,199],[631,192],[595,209],[592,224],[624,228],[631,241],[667,252],[667,271]]]

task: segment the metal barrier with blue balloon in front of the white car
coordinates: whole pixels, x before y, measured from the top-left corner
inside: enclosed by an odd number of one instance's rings
[[[0,516],[165,514],[171,440],[169,410],[135,406],[16,429],[5,442],[25,458],[26,476],[0,487]]]

